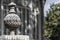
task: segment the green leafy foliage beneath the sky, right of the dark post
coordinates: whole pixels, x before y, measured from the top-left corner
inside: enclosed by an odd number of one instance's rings
[[[44,36],[46,40],[60,40],[60,4],[50,6],[45,17]]]

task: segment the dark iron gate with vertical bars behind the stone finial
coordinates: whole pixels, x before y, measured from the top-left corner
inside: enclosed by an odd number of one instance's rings
[[[39,40],[39,31],[41,31],[39,29],[39,0],[1,0],[0,35],[9,35],[9,30],[4,24],[4,17],[9,14],[8,4],[11,2],[16,4],[15,11],[22,22],[22,25],[15,31],[15,35],[29,35],[31,40]]]

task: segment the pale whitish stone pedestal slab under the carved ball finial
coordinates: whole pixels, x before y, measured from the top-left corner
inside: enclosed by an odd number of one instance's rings
[[[29,40],[28,35],[2,35],[1,40]]]

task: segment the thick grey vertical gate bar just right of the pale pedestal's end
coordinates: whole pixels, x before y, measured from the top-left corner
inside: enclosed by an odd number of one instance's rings
[[[32,11],[32,0],[31,0],[31,11],[30,11],[30,13],[29,13],[29,16],[30,16],[30,18],[29,18],[29,24],[31,25],[29,28],[30,28],[30,31],[29,31],[29,36],[30,36],[30,40],[33,40],[33,36],[32,36],[32,34],[33,34],[33,27],[34,27],[34,24],[33,24],[33,16],[32,16],[32,13],[33,13],[33,11]]]

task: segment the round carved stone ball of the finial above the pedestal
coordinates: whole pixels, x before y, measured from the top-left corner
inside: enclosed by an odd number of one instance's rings
[[[16,14],[8,14],[4,18],[4,23],[10,28],[16,28],[21,25],[20,17]]]

